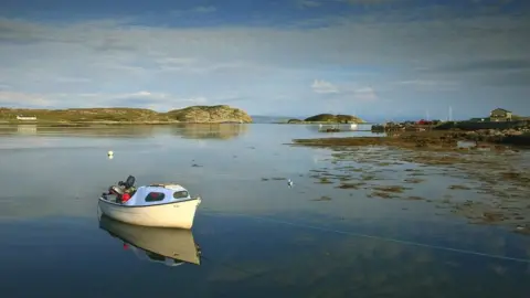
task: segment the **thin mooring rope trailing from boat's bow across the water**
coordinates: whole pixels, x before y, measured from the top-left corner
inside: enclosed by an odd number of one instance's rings
[[[453,252],[453,253],[460,253],[460,254],[467,254],[467,255],[475,255],[475,256],[481,256],[481,257],[489,257],[489,258],[497,258],[497,259],[502,259],[502,260],[512,260],[512,262],[530,264],[530,259],[528,259],[528,258],[509,257],[509,256],[494,255],[494,254],[480,253],[480,252],[476,252],[476,251],[453,248],[453,247],[448,247],[448,246],[433,245],[433,244],[426,244],[426,243],[420,243],[420,242],[413,242],[413,241],[395,240],[395,238],[389,238],[389,237],[383,237],[383,236],[375,236],[375,235],[361,234],[361,233],[354,233],[354,232],[349,232],[349,231],[327,228],[327,227],[309,225],[309,224],[304,224],[304,223],[288,222],[288,221],[276,220],[276,219],[272,219],[272,217],[267,217],[267,216],[254,216],[254,215],[248,215],[248,214],[227,213],[227,212],[201,212],[200,214],[204,214],[204,215],[230,214],[230,215],[235,215],[235,216],[241,216],[241,217],[250,217],[250,219],[254,219],[254,220],[269,221],[269,222],[274,222],[274,223],[278,223],[278,224],[286,224],[286,225],[292,225],[292,226],[297,226],[297,227],[306,227],[306,228],[311,228],[311,230],[316,230],[316,231],[342,234],[342,235],[353,236],[353,237],[371,238],[371,240],[393,242],[393,243],[398,243],[398,244],[412,245],[412,246],[418,246],[418,247],[425,247],[425,248],[432,248],[432,249],[438,249],[438,251],[446,251],[446,252]]]

